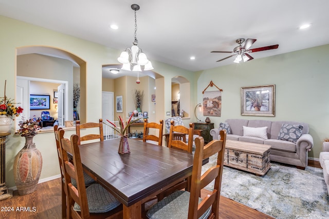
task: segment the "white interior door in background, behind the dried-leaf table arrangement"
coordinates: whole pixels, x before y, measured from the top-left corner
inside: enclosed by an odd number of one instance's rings
[[[114,117],[114,108],[113,108],[113,98],[114,93],[113,92],[102,92],[102,119],[105,123],[106,120],[113,121]],[[104,135],[107,136],[107,129],[108,127],[103,124],[103,132]]]

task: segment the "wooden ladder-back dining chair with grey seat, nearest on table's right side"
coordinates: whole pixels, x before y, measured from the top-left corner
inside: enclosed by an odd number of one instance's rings
[[[204,146],[203,137],[195,139],[191,190],[176,191],[156,203],[147,212],[153,218],[218,218],[220,208],[221,184],[223,176],[226,131],[221,130],[221,140],[213,140]],[[202,174],[202,163],[205,158],[217,154],[217,162]],[[213,190],[205,198],[200,198],[201,189],[212,183]]]

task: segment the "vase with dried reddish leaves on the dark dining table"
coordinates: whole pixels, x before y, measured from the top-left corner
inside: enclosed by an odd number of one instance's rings
[[[140,118],[138,118],[137,120],[132,120],[133,115],[134,114],[131,114],[131,116],[129,117],[129,120],[126,123],[123,121],[122,117],[119,115],[118,116],[118,121],[119,121],[118,126],[116,126],[114,123],[112,123],[111,121],[108,121],[108,120],[106,120],[106,121],[109,124],[103,122],[105,125],[114,129],[115,132],[121,137],[118,153],[121,153],[121,154],[130,153],[127,131],[131,124],[139,121],[139,119],[140,119]]]

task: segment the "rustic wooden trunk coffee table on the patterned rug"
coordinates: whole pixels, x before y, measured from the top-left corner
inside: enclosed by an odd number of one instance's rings
[[[264,175],[271,167],[270,148],[270,145],[226,140],[224,165]]]

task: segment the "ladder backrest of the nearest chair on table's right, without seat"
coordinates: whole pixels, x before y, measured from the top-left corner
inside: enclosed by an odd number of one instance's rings
[[[213,140],[204,146],[204,138],[197,137],[195,139],[195,152],[191,180],[191,194],[189,203],[188,218],[199,218],[202,216],[210,206],[211,214],[208,218],[218,218],[218,211],[220,206],[220,195],[224,165],[226,131],[220,131],[221,140]],[[217,163],[210,167],[201,175],[202,162],[217,153]],[[208,195],[198,204],[200,190],[215,180],[213,191],[209,191]]]

